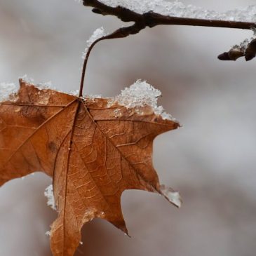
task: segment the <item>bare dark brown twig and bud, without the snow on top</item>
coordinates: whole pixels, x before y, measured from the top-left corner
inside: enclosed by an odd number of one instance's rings
[[[122,6],[107,6],[102,4],[98,0],[83,0],[84,6],[93,7],[93,12],[101,15],[114,15],[123,22],[135,22],[133,26],[126,27],[126,36],[130,34],[137,34],[145,27],[156,27],[158,25],[185,25],[185,26],[200,26],[200,27],[226,27],[232,29],[252,29],[255,28],[255,23],[253,22],[238,22],[238,21],[229,21],[229,20],[206,20],[206,19],[196,19],[196,18],[180,18],[180,17],[171,17],[168,15],[161,15],[159,13],[148,12],[148,13],[136,13],[128,8]],[[114,37],[120,38],[126,37],[121,36],[117,30],[114,32]],[[102,38],[103,39],[109,38]],[[237,60],[240,57],[245,57],[245,60],[252,60],[256,55],[255,42],[251,42],[245,48],[235,49],[231,48],[229,52],[222,53],[218,56],[219,60]],[[82,79],[83,81],[83,79]]]

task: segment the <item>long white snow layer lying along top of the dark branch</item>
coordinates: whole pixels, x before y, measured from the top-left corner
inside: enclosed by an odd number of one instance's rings
[[[162,15],[198,18],[207,20],[230,20],[243,22],[256,22],[256,5],[251,5],[242,9],[234,9],[220,13],[218,11],[210,11],[191,4],[186,5],[181,1],[167,0],[100,0],[102,4],[107,6],[123,6],[136,13],[147,13],[154,11]]]

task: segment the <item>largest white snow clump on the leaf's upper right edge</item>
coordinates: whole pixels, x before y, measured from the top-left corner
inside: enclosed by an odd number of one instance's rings
[[[120,105],[127,108],[148,105],[152,108],[154,114],[161,115],[162,119],[175,121],[173,116],[164,112],[162,106],[157,106],[159,96],[161,96],[160,90],[155,89],[146,81],[137,80],[129,88],[122,90],[121,94],[114,98],[114,102],[119,102]]]

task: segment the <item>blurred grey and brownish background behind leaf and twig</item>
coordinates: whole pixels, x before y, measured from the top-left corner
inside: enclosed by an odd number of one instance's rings
[[[227,11],[253,0],[187,0]],[[97,27],[123,25],[74,0],[0,0],[0,81],[52,81],[79,87],[81,53]],[[177,210],[163,198],[126,191],[123,214],[132,238],[103,220],[83,228],[76,256],[255,256],[255,61],[220,62],[217,55],[251,36],[238,29],[155,27],[93,51],[85,93],[113,96],[136,79],[159,88],[160,104],[183,128],[154,142],[161,182],[178,189]],[[0,255],[50,256],[56,213],[46,206],[50,178],[41,173],[0,189]]]

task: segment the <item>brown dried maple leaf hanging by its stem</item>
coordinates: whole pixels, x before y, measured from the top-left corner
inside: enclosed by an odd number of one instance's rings
[[[0,102],[0,186],[36,171],[53,177],[58,219],[51,249],[72,256],[83,224],[95,217],[127,234],[126,189],[158,192],[179,204],[177,192],[160,186],[151,159],[154,138],[178,126],[147,105],[127,108],[20,80],[18,93]]]

